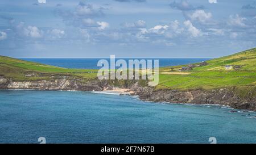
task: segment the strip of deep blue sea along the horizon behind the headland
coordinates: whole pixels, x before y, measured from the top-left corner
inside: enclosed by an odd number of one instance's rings
[[[22,60],[39,62],[41,64],[59,66],[63,68],[79,68],[79,69],[100,69],[101,67],[97,66],[97,63],[102,58],[20,58]],[[110,58],[103,58],[110,62]],[[128,62],[129,58],[115,58],[115,61],[118,59],[124,59]],[[141,60],[143,58],[130,58]],[[195,62],[201,62],[209,60],[209,58],[144,58],[144,59],[157,59],[159,60],[159,66],[174,66],[174,65],[184,65],[192,64]],[[154,61],[153,61],[154,62]]]

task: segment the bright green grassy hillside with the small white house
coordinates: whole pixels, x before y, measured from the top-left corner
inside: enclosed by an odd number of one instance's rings
[[[256,86],[256,48],[234,55],[214,58],[207,65],[191,64],[192,70],[180,70],[180,66],[160,68],[157,89],[212,89],[226,86]],[[226,65],[238,66],[225,70]]]

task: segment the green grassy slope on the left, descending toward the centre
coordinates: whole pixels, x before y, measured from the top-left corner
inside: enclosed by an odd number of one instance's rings
[[[67,69],[36,62],[23,61],[16,58],[0,56],[0,76],[15,81],[38,79],[54,79],[59,76],[81,77],[84,80],[96,78],[97,70]]]

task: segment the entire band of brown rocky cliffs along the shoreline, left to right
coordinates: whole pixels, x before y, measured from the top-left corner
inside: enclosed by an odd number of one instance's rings
[[[106,87],[111,89],[113,83],[118,87],[128,87],[142,100],[154,102],[171,103],[196,103],[196,104],[221,104],[238,109],[256,110],[256,97],[253,94],[241,97],[233,89],[214,90],[155,90],[153,87],[141,86],[138,81],[109,82],[97,79],[82,82],[80,79],[60,78],[39,80],[39,81],[13,81],[5,77],[0,77],[0,89],[39,89],[39,90],[82,90],[82,91],[102,91]]]

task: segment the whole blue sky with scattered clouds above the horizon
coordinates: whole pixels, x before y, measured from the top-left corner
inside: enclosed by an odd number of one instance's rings
[[[256,0],[1,0],[0,55],[220,57],[256,47]]]

